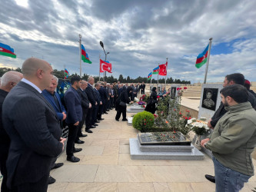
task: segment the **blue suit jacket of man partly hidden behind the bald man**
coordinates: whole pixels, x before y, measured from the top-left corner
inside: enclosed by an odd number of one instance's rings
[[[52,97],[52,94],[50,94],[48,91],[46,91],[46,89],[44,91],[42,91],[43,96],[45,97],[45,99],[52,104],[52,107],[55,109],[55,112],[58,116],[58,120],[62,121],[63,119],[63,114],[62,112],[65,112],[65,114],[67,114],[67,111],[65,110],[61,98],[59,97],[58,93],[54,93],[57,100],[58,100],[58,104],[61,107],[60,109],[58,108],[57,104],[55,103],[55,99]]]

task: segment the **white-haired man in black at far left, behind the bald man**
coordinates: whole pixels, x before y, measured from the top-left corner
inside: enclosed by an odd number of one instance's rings
[[[6,161],[11,140],[2,125],[2,104],[5,101],[8,92],[10,92],[11,89],[14,88],[16,84],[18,84],[18,81],[20,81],[22,77],[23,74],[17,71],[8,71],[3,74],[1,78],[2,84],[0,86],[0,170],[3,176],[1,185],[1,191],[3,192],[8,191],[8,188],[6,186]]]

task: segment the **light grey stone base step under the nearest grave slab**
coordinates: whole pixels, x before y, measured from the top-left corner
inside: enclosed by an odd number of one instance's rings
[[[190,152],[143,152],[137,138],[130,138],[131,159],[140,160],[203,160],[204,154],[193,146]]]

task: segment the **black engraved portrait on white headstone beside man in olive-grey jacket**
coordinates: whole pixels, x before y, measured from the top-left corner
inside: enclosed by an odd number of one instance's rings
[[[204,88],[202,108],[215,111],[218,96],[218,88]]]

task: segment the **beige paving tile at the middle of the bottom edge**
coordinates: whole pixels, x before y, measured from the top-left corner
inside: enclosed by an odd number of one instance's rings
[[[118,192],[155,192],[152,183],[118,183]]]

